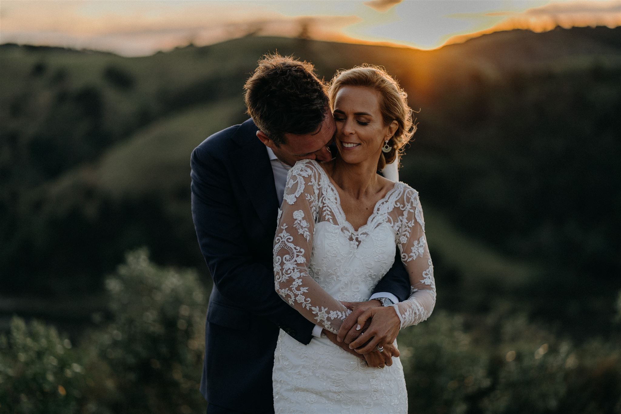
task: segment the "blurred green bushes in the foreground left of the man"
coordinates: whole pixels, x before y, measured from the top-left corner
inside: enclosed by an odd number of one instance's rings
[[[200,413],[207,295],[192,271],[159,268],[146,250],[107,277],[109,309],[76,346],[15,317],[0,336],[0,412]]]

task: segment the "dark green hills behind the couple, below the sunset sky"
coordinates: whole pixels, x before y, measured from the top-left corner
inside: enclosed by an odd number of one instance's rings
[[[245,119],[243,83],[276,50],[326,79],[383,65],[406,88],[419,131],[401,177],[443,235],[430,227],[453,289],[476,275],[524,286],[541,272],[542,291],[558,289],[555,277],[610,283],[621,247],[610,230],[621,223],[620,35],[513,30],[428,52],[247,37],[142,58],[2,45],[0,269],[13,276],[0,289],[97,290],[142,245],[155,261],[205,271],[189,154]]]

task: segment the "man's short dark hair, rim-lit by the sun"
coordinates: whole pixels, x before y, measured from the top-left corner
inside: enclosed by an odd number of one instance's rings
[[[248,115],[276,146],[285,133],[316,132],[329,109],[327,85],[314,66],[292,56],[263,56],[243,88]]]

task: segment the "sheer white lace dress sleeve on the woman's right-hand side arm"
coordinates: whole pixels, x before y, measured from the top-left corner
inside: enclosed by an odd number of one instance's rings
[[[426,320],[433,312],[436,296],[433,264],[425,237],[425,220],[419,195],[410,188],[404,196],[397,245],[412,287],[408,299],[392,305],[401,320],[401,328]]]

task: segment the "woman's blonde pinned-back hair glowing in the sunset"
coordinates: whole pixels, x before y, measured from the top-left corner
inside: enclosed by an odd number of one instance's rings
[[[343,86],[366,86],[378,91],[382,100],[379,102],[384,125],[397,121],[397,130],[388,140],[392,150],[388,153],[382,151],[379,155],[378,169],[383,169],[386,164],[392,163],[397,155],[403,153],[403,147],[416,132],[416,124],[412,118],[412,109],[407,106],[407,93],[384,68],[375,65],[355,66],[348,70],[338,71],[328,90],[330,97],[330,110],[333,110],[334,101],[338,91]]]

